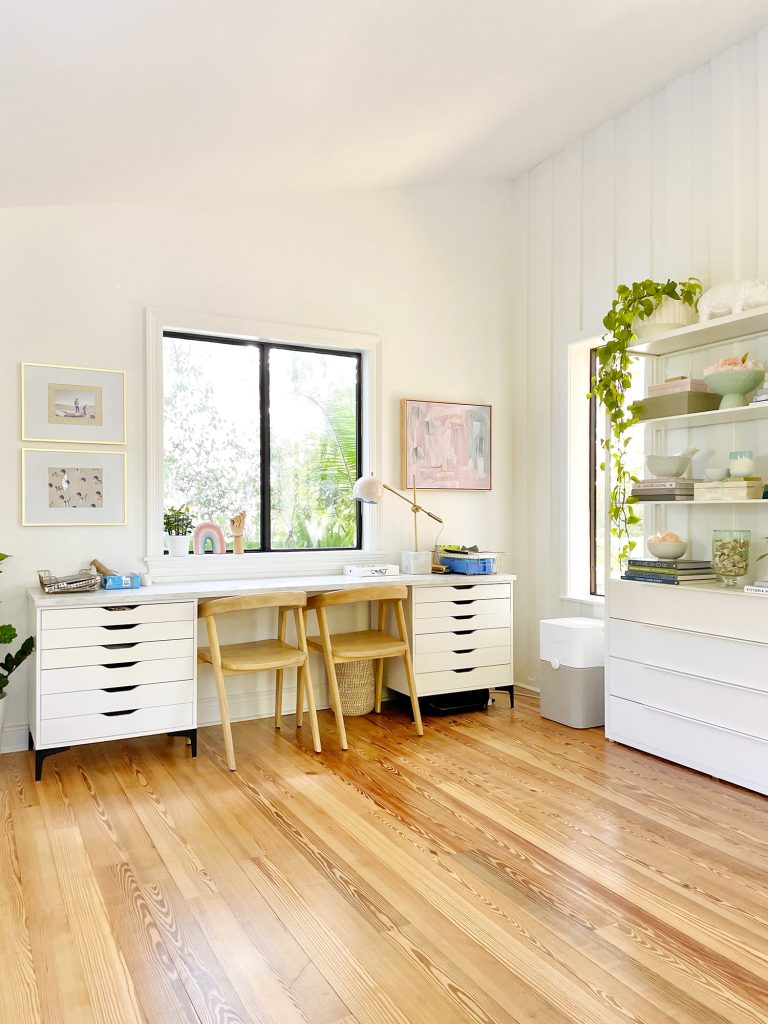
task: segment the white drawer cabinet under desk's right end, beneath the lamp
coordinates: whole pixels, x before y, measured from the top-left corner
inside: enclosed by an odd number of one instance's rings
[[[412,587],[406,605],[419,696],[511,687],[512,581],[494,575],[461,583],[456,577],[450,583],[433,580]],[[386,684],[408,693],[395,660]]]

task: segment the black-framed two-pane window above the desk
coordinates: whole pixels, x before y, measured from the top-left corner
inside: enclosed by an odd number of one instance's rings
[[[166,332],[164,504],[246,513],[246,551],[362,546],[361,355]]]

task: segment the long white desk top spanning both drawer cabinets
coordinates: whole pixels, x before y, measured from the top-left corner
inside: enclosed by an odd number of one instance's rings
[[[158,583],[138,590],[102,590],[86,594],[44,594],[39,589],[28,591],[35,607],[56,608],[77,605],[152,604],[167,601],[191,601],[206,597],[232,597],[265,594],[275,590],[301,590],[317,594],[326,590],[348,590],[353,587],[376,587],[401,583],[408,587],[462,587],[473,584],[514,583],[515,575],[461,575],[458,572],[431,575],[391,577],[254,577],[253,580],[200,580],[194,583]]]

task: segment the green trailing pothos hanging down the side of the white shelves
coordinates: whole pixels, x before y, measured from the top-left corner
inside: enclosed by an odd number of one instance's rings
[[[618,559],[627,559],[635,542],[630,537],[630,527],[640,522],[640,517],[632,506],[637,499],[631,495],[632,484],[637,481],[627,467],[627,445],[629,430],[637,423],[632,406],[627,404],[627,392],[632,385],[633,357],[630,352],[635,341],[634,325],[638,319],[647,319],[660,306],[664,299],[676,299],[695,309],[701,294],[698,278],[687,281],[636,281],[632,286],[620,285],[610,309],[603,317],[606,333],[597,350],[597,373],[592,378],[589,397],[596,398],[607,413],[610,428],[602,441],[605,461],[611,462],[613,486],[610,490],[609,514],[610,532],[618,540]],[[605,469],[605,461],[600,468]]]

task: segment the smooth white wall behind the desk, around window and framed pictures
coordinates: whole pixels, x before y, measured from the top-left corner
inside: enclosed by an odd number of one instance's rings
[[[381,473],[393,482],[400,397],[492,402],[494,490],[435,494],[429,504],[445,519],[443,539],[508,550],[511,237],[504,184],[0,211],[0,550],[15,556],[0,578],[3,622],[24,629],[38,568],[63,573],[93,557],[140,566],[145,306],[381,335]],[[23,360],[128,372],[126,527],[19,525]],[[410,514],[392,502],[385,549],[397,551]],[[431,536],[426,528],[424,542]],[[6,750],[26,743],[25,671],[9,688]]]

